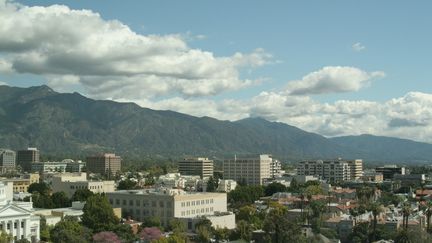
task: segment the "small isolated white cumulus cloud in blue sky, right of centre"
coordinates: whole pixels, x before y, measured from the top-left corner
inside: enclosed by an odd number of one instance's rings
[[[291,95],[328,94],[358,91],[372,79],[385,76],[382,71],[366,72],[355,67],[327,66],[290,81],[287,92]]]

